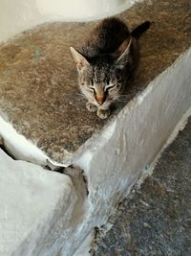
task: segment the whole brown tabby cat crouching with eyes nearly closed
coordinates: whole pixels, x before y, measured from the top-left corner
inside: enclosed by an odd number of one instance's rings
[[[116,17],[103,19],[80,51],[71,47],[78,72],[80,91],[87,98],[86,107],[105,119],[110,105],[124,91],[129,75],[138,66],[138,37],[150,27],[145,21],[132,32]]]

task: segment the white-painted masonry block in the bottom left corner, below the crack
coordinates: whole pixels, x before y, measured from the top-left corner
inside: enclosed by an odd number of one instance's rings
[[[71,221],[70,178],[12,160],[0,149],[0,255],[44,255]],[[55,255],[55,254],[52,254]]]

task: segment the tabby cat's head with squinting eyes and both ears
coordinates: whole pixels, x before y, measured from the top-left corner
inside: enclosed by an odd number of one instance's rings
[[[128,40],[116,53],[91,59],[71,47],[78,71],[79,88],[89,102],[107,109],[119,98],[128,76],[130,45],[131,40]]]

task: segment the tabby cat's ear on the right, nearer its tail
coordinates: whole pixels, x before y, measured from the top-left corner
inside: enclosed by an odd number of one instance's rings
[[[131,44],[132,44],[132,37],[130,38],[130,40],[129,39],[124,40],[124,42],[119,46],[116,52],[117,60],[115,61],[115,64],[124,65],[129,61]]]

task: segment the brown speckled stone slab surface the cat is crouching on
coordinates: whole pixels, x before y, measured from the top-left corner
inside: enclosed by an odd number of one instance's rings
[[[130,28],[145,20],[154,22],[140,39],[141,61],[128,102],[190,47],[191,4],[149,0],[119,17]],[[80,47],[96,22],[48,23],[0,46],[1,112],[19,133],[58,162],[109,122],[85,108],[69,49]]]

